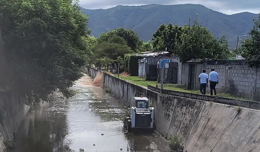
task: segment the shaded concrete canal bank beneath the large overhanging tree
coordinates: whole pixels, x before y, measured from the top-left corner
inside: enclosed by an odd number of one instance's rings
[[[0,152],[6,150],[4,141],[14,138],[14,133],[17,132],[29,109],[19,92],[0,93]]]

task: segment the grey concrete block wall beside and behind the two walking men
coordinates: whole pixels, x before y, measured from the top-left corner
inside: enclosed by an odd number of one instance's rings
[[[255,100],[259,99],[260,90],[257,88],[260,87],[260,72],[257,74],[255,67],[238,65],[205,65],[204,67],[205,69],[214,68],[218,72],[219,84],[216,86],[218,92],[251,98],[256,91]]]

